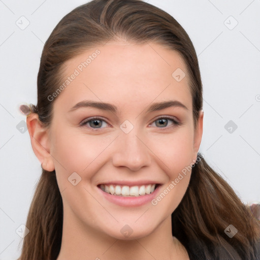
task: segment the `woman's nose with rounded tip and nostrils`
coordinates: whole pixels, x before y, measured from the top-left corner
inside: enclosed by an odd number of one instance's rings
[[[124,166],[132,171],[138,171],[151,164],[150,150],[146,140],[135,131],[135,128],[128,134],[120,133],[115,142],[115,152],[112,158],[115,167]]]

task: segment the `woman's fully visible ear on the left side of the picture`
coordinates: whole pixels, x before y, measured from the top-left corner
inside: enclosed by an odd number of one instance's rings
[[[50,154],[50,142],[48,128],[39,120],[37,113],[30,113],[27,116],[26,124],[30,135],[32,150],[39,159],[42,168],[46,171],[54,171],[54,163]]]

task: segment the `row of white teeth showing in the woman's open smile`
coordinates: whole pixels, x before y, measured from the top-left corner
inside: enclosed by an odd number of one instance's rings
[[[159,186],[159,184],[148,184],[148,185],[140,185],[140,186],[127,186],[127,185],[106,185],[100,184],[98,187],[103,191],[115,195],[115,196],[123,196],[123,197],[139,197],[151,194],[154,190]]]

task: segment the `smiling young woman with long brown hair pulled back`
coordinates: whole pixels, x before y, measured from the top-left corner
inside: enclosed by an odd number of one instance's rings
[[[97,0],[64,16],[27,115],[43,172],[20,259],[258,259],[259,223],[199,153],[202,103],[166,12]]]

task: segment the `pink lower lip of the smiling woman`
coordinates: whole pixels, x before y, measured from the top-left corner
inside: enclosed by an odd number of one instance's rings
[[[117,204],[119,206],[123,207],[138,207],[145,205],[149,202],[151,202],[159,192],[160,185],[150,194],[140,195],[140,196],[132,196],[132,197],[124,197],[124,196],[116,196],[112,195],[110,193],[107,193],[106,191],[103,191],[101,188],[98,187],[100,192],[103,194],[103,196],[110,202]]]

